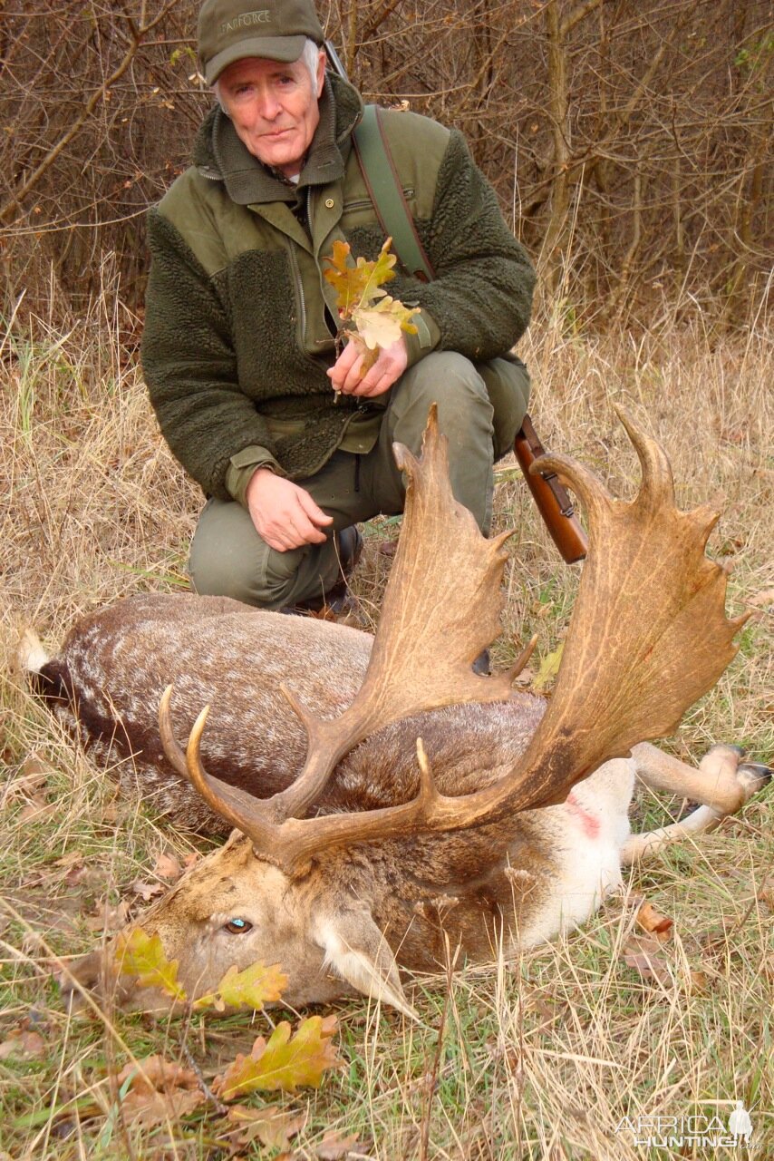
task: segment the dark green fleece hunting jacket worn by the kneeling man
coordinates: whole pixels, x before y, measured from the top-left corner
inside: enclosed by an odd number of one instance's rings
[[[361,115],[356,91],[328,77],[292,186],[214,109],[194,165],[150,211],[143,369],[161,432],[205,495],[240,498],[245,469],[262,464],[311,476],[363,420],[359,402],[337,399],[325,374],[337,312],[321,277],[335,239],[364,258],[384,241],[352,149]],[[384,127],[436,272],[431,283],[406,274],[390,283],[393,296],[421,308],[410,363],[433,349],[504,354],[527,326],[534,274],[491,186],[458,132],[397,111],[385,113]]]

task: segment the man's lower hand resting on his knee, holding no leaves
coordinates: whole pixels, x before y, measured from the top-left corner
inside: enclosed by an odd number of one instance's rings
[[[309,492],[268,468],[255,469],[245,499],[259,535],[279,553],[302,545],[321,545],[326,538],[320,528],[333,522],[333,517],[326,515]]]

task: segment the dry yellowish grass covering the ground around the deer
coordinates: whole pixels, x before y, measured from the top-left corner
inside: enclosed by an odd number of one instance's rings
[[[56,733],[9,670],[24,623],[56,644],[81,610],[186,583],[198,497],[155,431],[136,367],[111,339],[115,323],[95,315],[68,334],[41,324],[34,341],[16,329],[1,352],[0,1041],[20,1029],[43,1040],[42,1054],[0,1051],[0,1155],[13,1158],[222,1155],[207,1116],[126,1135],[109,1076],[131,1054],[180,1055],[186,1038],[207,1070],[252,1039],[244,1017],[210,1021],[207,1036],[118,1014],[74,1019],[50,981],[51,952],[75,954],[92,943],[87,916],[97,900],[117,902],[137,875],[149,878],[162,848],[190,845],[137,803],[117,801],[110,780]],[[566,319],[537,324],[527,345],[537,383],[531,410],[547,442],[630,490],[634,457],[610,409],[627,401],[667,447],[683,506],[710,499],[723,510],[712,549],[735,565],[732,611],[761,601],[739,657],[671,740],[681,756],[696,758],[716,738],[740,741],[762,759],[774,751],[772,598],[759,596],[774,584],[771,355],[764,334],[711,341],[699,325],[664,325],[642,340],[625,331],[589,338]],[[577,577],[559,563],[507,462],[499,479],[498,521],[519,528],[508,626],[495,650],[506,661],[513,639],[533,632],[542,655],[555,648]],[[396,526],[374,521],[367,531],[357,585],[376,616],[389,567],[378,546]],[[383,1161],[664,1156],[616,1134],[621,1118],[718,1111],[726,1119],[723,1102],[735,1098],[753,1115],[747,1155],[774,1155],[771,800],[769,791],[700,846],[675,848],[634,877],[635,889],[675,920],[665,953],[672,982],[643,980],[624,965],[632,910],[613,900],[586,929],[516,965],[458,973],[448,998],[442,980],[422,985],[427,1029],[363,1002],[343,1007],[347,1069],[311,1098],[288,1102],[310,1108],[297,1155],[314,1156],[323,1130],[334,1127],[360,1134],[357,1155]],[[649,819],[654,809],[641,806]],[[74,882],[67,874],[78,856],[87,873]],[[725,1152],[696,1145],[679,1155]]]

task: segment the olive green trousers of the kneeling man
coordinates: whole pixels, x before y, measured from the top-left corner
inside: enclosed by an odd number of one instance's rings
[[[378,513],[403,512],[405,485],[392,444],[419,453],[432,403],[437,403],[439,427],[449,441],[455,499],[470,509],[486,535],[492,464],[513,448],[528,399],[529,375],[515,356],[472,363],[454,352],[426,355],[392,388],[372,450],[335,452],[314,476],[296,481],[333,517],[326,542],[280,553],[259,536],[245,507],[210,499],[190,549],[194,589],[261,608],[295,605],[332,589],[341,579],[333,532]]]

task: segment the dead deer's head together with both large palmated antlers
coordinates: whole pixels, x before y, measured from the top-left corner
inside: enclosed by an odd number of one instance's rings
[[[290,976],[290,1003],[354,988],[411,1011],[396,962],[405,930],[385,930],[375,920],[375,852],[384,858],[388,851],[408,872],[419,838],[425,850],[437,843],[441,852],[449,836],[464,842],[486,827],[493,848],[501,846],[514,813],[563,801],[603,762],[672,733],[717,680],[744,618],[726,620],[725,572],[704,556],[716,517],[706,509],[677,511],[664,452],[621,419],[643,473],[632,502],[613,498],[567,457],[540,461],[583,500],[589,553],[554,697],[526,752],[493,785],[461,796],[439,793],[433,755],[419,740],[419,791],[408,801],[313,815],[337,763],[364,737],[402,717],[511,693],[514,671],[490,678],[471,671],[498,633],[509,534],[485,540],[454,500],[434,412],[420,460],[396,446],[408,477],[406,511],[360,692],[332,720],[316,719],[288,694],[309,735],[296,781],[259,800],[210,777],[200,752],[207,708],[183,752],[167,691],[159,715],[167,757],[238,831],[143,918],[146,931],[161,936],[167,957],[180,960],[190,995],[211,990],[232,965],[262,959],[280,962]],[[86,981],[97,962],[87,958],[75,975]]]

